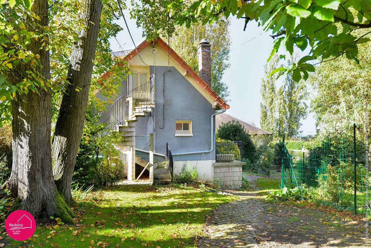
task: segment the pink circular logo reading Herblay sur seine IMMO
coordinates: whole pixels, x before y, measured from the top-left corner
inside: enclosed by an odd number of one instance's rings
[[[17,210],[6,218],[5,229],[10,238],[20,241],[26,240],[34,234],[36,221],[31,213]]]

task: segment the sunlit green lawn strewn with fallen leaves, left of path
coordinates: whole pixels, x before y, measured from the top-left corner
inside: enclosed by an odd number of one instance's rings
[[[40,226],[27,244],[6,240],[14,247],[196,247],[211,209],[233,199],[190,186],[116,186],[77,203],[76,226]]]

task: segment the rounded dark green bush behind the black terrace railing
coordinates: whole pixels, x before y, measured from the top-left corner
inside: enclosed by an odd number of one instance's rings
[[[228,121],[219,126],[216,137],[222,140],[242,141],[243,157],[254,161],[256,147],[245,128],[238,121]]]

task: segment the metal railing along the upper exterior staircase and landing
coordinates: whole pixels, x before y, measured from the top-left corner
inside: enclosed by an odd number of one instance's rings
[[[112,103],[111,128],[116,125],[124,125],[125,121],[134,115],[135,104],[138,105],[135,112],[140,112],[155,102],[154,78],[155,76],[152,74],[150,81],[132,89]]]

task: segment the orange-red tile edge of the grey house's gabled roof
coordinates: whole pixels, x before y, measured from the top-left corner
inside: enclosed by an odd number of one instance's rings
[[[207,94],[209,94],[212,98],[214,98],[214,100],[220,105],[221,108],[224,108],[225,110],[229,109],[229,105],[226,102],[224,102],[223,99],[221,99],[219,95],[216,94],[216,92],[213,91],[213,89],[211,89],[210,86],[207,85],[206,82],[204,82],[201,79],[201,77],[182,58],[180,58],[180,56],[173,49],[171,49],[166,44],[166,42],[164,42],[164,40],[162,40],[160,37],[158,37],[157,39],[153,41],[144,40],[142,43],[140,43],[137,46],[138,51],[140,52],[141,50],[146,48],[148,45],[150,45],[152,42],[157,42],[158,45],[162,47],[162,49],[164,49],[166,52],[169,52],[170,56],[174,58],[174,60],[177,61],[177,63],[179,63],[179,65],[183,67],[183,69],[185,69],[185,71],[188,72],[188,75],[193,77],[193,79],[196,80],[198,84],[201,85],[201,87],[207,92]],[[125,55],[124,60],[129,61],[135,55],[137,55],[138,54],[137,49],[134,48],[131,52]],[[125,52],[125,51],[121,51],[121,52]],[[107,78],[108,76],[109,76],[109,72],[106,72],[105,74],[102,75],[102,79]]]

